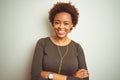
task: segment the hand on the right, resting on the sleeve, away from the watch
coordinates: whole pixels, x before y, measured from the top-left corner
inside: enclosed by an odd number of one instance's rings
[[[89,76],[89,73],[86,69],[80,69],[73,76],[78,78],[86,78]]]

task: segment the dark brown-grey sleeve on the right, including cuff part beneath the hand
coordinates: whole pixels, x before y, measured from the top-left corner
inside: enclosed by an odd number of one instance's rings
[[[78,68],[87,70],[84,52],[80,45],[77,46],[77,53],[78,53]],[[73,76],[68,76],[67,80],[89,80],[89,77],[81,79]]]

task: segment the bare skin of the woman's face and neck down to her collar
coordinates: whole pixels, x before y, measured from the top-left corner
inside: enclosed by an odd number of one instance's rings
[[[53,43],[60,46],[69,44],[71,40],[67,35],[73,27],[71,15],[66,12],[56,14],[52,25],[56,33],[55,36],[51,37]]]

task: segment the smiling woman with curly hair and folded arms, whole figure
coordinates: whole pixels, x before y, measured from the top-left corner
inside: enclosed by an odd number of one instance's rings
[[[83,50],[67,37],[78,23],[78,11],[71,3],[56,3],[49,20],[56,35],[37,42],[31,80],[88,80]]]

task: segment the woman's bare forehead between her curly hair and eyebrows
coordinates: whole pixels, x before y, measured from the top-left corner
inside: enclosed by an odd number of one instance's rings
[[[60,12],[55,15],[54,20],[65,20],[65,21],[71,21],[71,15],[67,12]]]

